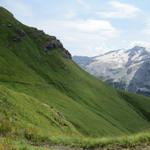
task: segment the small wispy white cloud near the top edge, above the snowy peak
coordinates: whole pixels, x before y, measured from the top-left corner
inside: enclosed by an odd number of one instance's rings
[[[111,1],[108,3],[109,9],[98,12],[104,18],[132,18],[137,16],[140,9],[134,5],[121,3],[119,1]]]

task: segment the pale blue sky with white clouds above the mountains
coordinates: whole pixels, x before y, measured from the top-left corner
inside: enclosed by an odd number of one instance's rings
[[[0,6],[56,36],[72,55],[150,48],[150,0],[0,0]]]

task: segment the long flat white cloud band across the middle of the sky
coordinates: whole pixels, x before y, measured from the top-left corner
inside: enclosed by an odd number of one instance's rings
[[[65,32],[69,32],[101,36],[107,39],[119,34],[119,31],[105,20],[50,20],[38,22],[36,26],[49,33],[63,33],[64,36]]]

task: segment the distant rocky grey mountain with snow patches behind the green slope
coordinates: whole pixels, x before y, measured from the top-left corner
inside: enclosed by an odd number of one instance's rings
[[[116,88],[150,95],[150,52],[144,47],[73,59],[86,71]]]

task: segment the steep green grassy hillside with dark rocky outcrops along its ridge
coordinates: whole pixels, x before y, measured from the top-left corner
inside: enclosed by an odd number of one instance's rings
[[[0,133],[120,136],[150,127],[150,99],[116,91],[70,58],[56,39],[0,7]],[[58,42],[58,41],[57,41]]]

